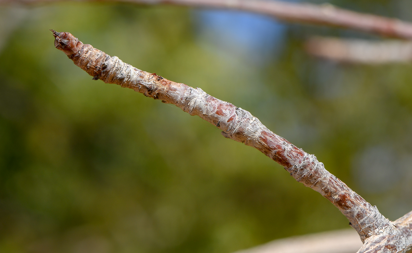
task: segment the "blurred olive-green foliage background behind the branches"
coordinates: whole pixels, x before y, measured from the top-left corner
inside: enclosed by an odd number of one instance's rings
[[[412,20],[410,0],[331,3]],[[304,51],[312,35],[379,37],[235,11],[8,5],[0,252],[230,253],[349,227],[328,200],[210,123],[92,81],[48,29],[250,111],[391,220],[412,209],[412,66],[341,65]]]

